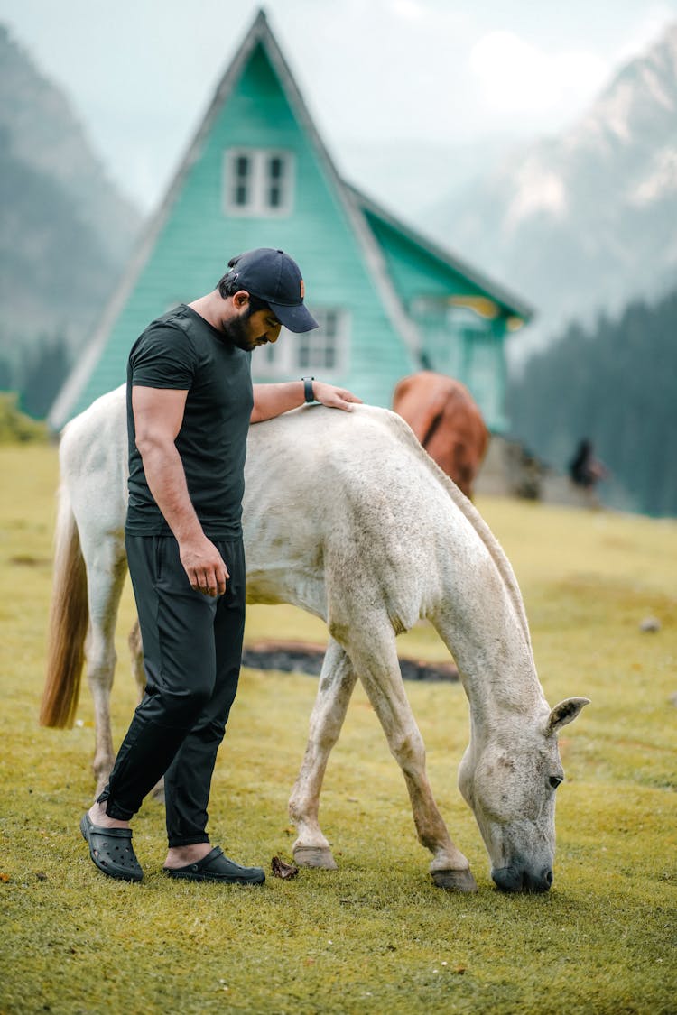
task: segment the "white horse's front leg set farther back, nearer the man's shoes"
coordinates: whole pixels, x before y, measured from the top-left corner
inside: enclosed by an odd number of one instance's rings
[[[350,660],[332,638],[322,664],[303,763],[289,798],[289,816],[298,832],[293,844],[293,857],[299,867],[336,869],[336,862],[318,819],[320,791],[329,755],[343,726],[355,680]]]

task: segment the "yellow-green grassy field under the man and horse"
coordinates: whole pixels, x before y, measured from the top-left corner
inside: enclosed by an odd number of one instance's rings
[[[358,688],[329,764],[323,827],[335,872],[260,889],[168,882],[163,814],[135,822],[141,885],[98,875],[77,830],[93,791],[89,695],[78,724],[37,714],[51,580],[56,452],[0,448],[0,1012],[651,1013],[677,1011],[677,524],[499,499],[479,507],[525,596],[551,704],[566,727],[555,884],[492,887],[456,789],[467,743],[459,685],[408,685],[432,786],[469,857],[474,896],[435,889],[403,780]],[[661,628],[644,633],[655,616]],[[119,626],[116,742],[134,706]],[[286,607],[250,612],[248,638],[322,640]],[[402,653],[444,659],[420,626]],[[246,670],[215,773],[210,829],[244,863],[290,859],[286,800],[315,696],[311,677]]]

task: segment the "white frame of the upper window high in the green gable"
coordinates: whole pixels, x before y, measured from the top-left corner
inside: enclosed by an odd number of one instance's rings
[[[250,194],[246,204],[235,201],[235,165],[247,158],[251,167]],[[278,205],[269,202],[268,167],[279,158],[284,166],[281,199]],[[223,210],[227,215],[284,218],[293,209],[295,162],[293,152],[283,148],[227,148],[223,153]]]

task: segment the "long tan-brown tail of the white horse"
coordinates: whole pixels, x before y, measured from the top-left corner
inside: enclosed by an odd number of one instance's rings
[[[65,486],[59,492],[54,579],[41,726],[70,728],[75,719],[89,622],[87,576],[75,517]]]

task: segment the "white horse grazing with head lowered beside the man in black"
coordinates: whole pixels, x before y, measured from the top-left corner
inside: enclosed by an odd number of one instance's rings
[[[114,631],[126,573],[125,389],[66,427],[48,679],[41,721],[72,723],[84,661],[94,699],[97,786],[114,752]],[[427,618],[454,655],[470,702],[459,786],[507,891],[547,891],[557,732],[588,698],[552,710],[536,675],[522,597],[477,511],[394,413],[301,408],[252,426],[244,502],[248,600],[292,603],[326,620],[330,639],[300,772],[289,800],[296,863],[334,868],[319,820],[330,751],[357,677],[409,791],[436,885],[476,889],[425,773],[395,637]]]

